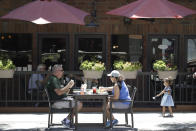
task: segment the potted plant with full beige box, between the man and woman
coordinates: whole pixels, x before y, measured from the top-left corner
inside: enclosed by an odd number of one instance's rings
[[[83,70],[85,78],[99,79],[102,77],[105,66],[104,63],[100,61],[85,60],[81,63],[80,70]]]

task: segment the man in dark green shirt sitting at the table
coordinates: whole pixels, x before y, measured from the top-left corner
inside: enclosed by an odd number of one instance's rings
[[[69,93],[70,89],[74,85],[74,81],[70,80],[70,82],[66,86],[61,86],[60,78],[63,76],[64,71],[61,65],[54,65],[52,68],[52,75],[48,78],[46,88],[48,89],[49,95],[52,100],[56,101],[52,105],[53,108],[61,109],[61,108],[70,108],[69,101],[58,101],[58,100],[72,100],[72,108],[75,106],[75,101],[68,97],[67,94]],[[82,103],[78,102],[78,110],[82,108]],[[66,127],[70,127],[70,119],[74,117],[73,114],[70,112],[69,115],[62,120],[62,124]]]

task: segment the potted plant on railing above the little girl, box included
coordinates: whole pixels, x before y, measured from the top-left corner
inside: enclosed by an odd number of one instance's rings
[[[153,63],[153,69],[157,71],[160,79],[168,78],[176,79],[177,76],[177,66],[171,63],[167,63],[163,60],[156,60]]]

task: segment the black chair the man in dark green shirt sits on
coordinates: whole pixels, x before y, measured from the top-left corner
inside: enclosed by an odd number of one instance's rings
[[[52,104],[55,101],[51,100],[51,97],[48,93],[48,90],[46,87],[44,87],[44,90],[46,92],[47,98],[48,98],[48,105],[49,105],[49,114],[48,114],[48,128],[50,128],[50,126],[58,126],[58,125],[62,125],[62,124],[57,124],[57,123],[53,123],[53,114],[54,113],[73,113],[73,108],[72,108],[72,100],[59,100],[59,101],[69,101],[69,108],[63,108],[63,109],[57,109],[52,107]],[[71,125],[73,123],[73,119],[71,119]]]

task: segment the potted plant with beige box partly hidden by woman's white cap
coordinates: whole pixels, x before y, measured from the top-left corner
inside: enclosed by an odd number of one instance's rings
[[[114,69],[118,70],[125,79],[136,79],[138,70],[142,69],[140,62],[115,61]]]

